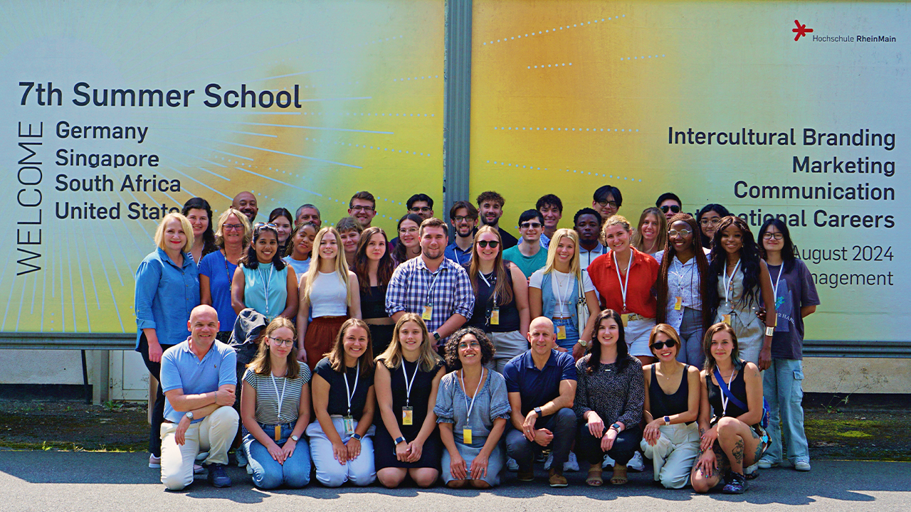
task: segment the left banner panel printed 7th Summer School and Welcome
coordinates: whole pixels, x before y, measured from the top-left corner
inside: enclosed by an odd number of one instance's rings
[[[0,331],[130,333],[158,220],[415,191],[442,207],[444,4],[0,5]],[[393,236],[393,235],[391,235]]]

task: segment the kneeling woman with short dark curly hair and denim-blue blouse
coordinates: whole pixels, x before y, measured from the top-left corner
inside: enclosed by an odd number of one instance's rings
[[[466,327],[449,337],[445,354],[455,372],[440,380],[434,407],[446,448],[443,481],[452,488],[498,486],[506,463],[500,438],[510,408],[503,375],[484,367],[494,345],[480,329]]]

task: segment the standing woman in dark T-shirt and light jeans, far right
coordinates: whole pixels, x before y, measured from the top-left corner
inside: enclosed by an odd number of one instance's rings
[[[763,394],[769,403],[769,449],[761,468],[783,462],[782,434],[788,460],[798,471],[810,470],[810,450],[804,433],[804,317],[816,311],[819,295],[813,274],[794,254],[791,232],[782,220],[769,219],[759,229],[760,254],[769,267],[778,323],[772,336],[772,364],[763,374]],[[779,427],[781,420],[781,427]]]

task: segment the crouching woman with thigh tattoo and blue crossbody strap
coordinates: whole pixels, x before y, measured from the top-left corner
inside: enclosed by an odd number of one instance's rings
[[[768,441],[759,425],[763,419],[763,377],[755,364],[742,361],[737,335],[727,323],[712,325],[705,333],[702,348],[702,453],[692,467],[692,488],[699,493],[708,492],[724,475],[722,492],[742,494],[747,489],[743,468],[759,461]],[[724,393],[724,388],[730,394]]]

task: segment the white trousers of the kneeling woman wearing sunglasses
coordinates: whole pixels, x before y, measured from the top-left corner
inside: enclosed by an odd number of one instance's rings
[[[642,453],[653,461],[656,482],[668,489],[681,489],[690,482],[690,470],[699,456],[699,427],[692,422],[658,428],[658,442],[652,446],[642,439]]]

